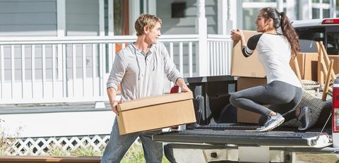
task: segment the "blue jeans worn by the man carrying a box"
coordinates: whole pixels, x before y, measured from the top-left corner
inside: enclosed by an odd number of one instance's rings
[[[160,163],[162,161],[162,143],[152,140],[152,135],[160,131],[150,131],[143,133],[130,133],[119,135],[117,119],[114,121],[112,133],[102,156],[102,163],[120,162],[129,147],[134,143],[136,138],[141,139],[143,145],[143,154],[146,162]]]

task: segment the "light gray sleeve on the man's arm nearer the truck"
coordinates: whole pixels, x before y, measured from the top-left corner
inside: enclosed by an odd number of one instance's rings
[[[183,78],[182,74],[177,70],[173,61],[169,58],[169,54],[164,44],[162,44],[161,52],[165,56],[165,74],[168,80],[172,81],[174,84],[178,78]]]

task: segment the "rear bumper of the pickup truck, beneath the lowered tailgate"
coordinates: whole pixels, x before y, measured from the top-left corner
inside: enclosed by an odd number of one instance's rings
[[[246,150],[246,155],[242,155],[244,150]],[[187,162],[187,160],[190,160],[190,162],[237,162],[239,160],[246,159],[251,160],[250,162],[255,162],[253,160],[254,157],[248,157],[249,154],[254,154],[256,156],[259,154],[268,156],[267,160],[264,162],[290,162],[290,160],[287,159],[292,159],[292,157],[295,157],[295,152],[338,154],[339,148],[253,147],[240,145],[192,145],[169,143],[164,146],[164,152],[165,156],[170,162]]]

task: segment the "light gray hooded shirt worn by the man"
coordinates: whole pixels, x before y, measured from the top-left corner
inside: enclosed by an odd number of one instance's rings
[[[121,99],[124,101],[162,95],[165,76],[173,83],[182,78],[173,61],[169,59],[164,44],[152,44],[148,54],[145,54],[131,43],[115,56],[107,88],[114,87],[117,90],[121,84]]]

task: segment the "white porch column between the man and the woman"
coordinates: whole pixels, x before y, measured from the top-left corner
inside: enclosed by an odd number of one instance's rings
[[[205,0],[196,1],[196,33],[199,41],[197,47],[197,71],[198,76],[208,76],[208,51],[207,51],[207,20],[205,17]]]

